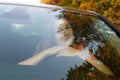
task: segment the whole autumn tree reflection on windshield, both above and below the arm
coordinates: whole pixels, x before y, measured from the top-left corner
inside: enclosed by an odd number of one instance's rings
[[[63,11],[61,15],[58,15],[58,18],[61,17],[66,18],[71,24],[75,35],[75,42],[89,46],[90,51],[94,53],[97,59],[108,66],[115,75],[103,74],[94,66],[85,62],[81,66],[70,68],[66,80],[119,80],[119,38],[114,34],[107,33],[107,31],[110,31],[109,28],[96,16]],[[94,46],[94,43],[100,43],[100,45]],[[97,50],[95,50],[96,47],[98,47]]]

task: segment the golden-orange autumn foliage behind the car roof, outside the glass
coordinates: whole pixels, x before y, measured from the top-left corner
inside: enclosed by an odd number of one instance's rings
[[[42,2],[98,12],[120,29],[120,0],[42,0]]]

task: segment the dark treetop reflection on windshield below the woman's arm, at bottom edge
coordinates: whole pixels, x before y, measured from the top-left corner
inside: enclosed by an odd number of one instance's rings
[[[101,73],[87,62],[82,66],[76,65],[75,68],[70,68],[66,76],[66,80],[116,80],[113,76]]]

